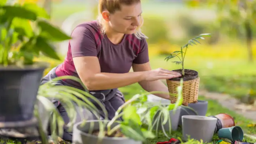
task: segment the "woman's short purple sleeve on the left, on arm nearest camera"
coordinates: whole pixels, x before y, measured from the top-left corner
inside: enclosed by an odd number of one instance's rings
[[[74,28],[72,39],[69,41],[72,57],[95,56],[97,57],[97,46],[93,33],[89,27],[84,25]]]

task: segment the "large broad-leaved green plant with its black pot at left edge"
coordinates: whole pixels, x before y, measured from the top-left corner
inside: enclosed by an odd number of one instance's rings
[[[29,121],[48,67],[34,58],[43,54],[60,59],[51,42],[71,38],[45,21],[49,16],[37,4],[4,1],[0,3],[0,122]]]

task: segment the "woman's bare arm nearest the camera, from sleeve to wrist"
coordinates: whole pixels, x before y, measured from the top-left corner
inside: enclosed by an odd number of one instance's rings
[[[73,62],[88,90],[115,89],[145,80],[145,72],[103,73],[97,57],[74,57]]]

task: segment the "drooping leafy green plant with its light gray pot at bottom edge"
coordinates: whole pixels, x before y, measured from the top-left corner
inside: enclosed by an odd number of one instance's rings
[[[142,144],[146,139],[155,138],[152,132],[161,122],[162,128],[170,122],[172,109],[182,104],[182,83],[177,87],[178,100],[175,104],[156,105],[147,102],[149,93],[137,94],[125,102],[111,120],[89,120],[76,123],[73,128],[74,144]],[[150,92],[159,93],[157,91]],[[147,125],[143,125],[146,122]],[[171,124],[169,125],[171,129]],[[158,130],[158,129],[157,129]],[[167,138],[165,129],[162,129]],[[171,132],[171,131],[169,131]]]

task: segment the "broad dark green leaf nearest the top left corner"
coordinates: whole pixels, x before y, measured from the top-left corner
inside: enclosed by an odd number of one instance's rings
[[[21,6],[17,5],[6,5],[2,7],[5,10],[5,16],[6,17],[18,17],[18,18],[24,18],[35,21],[37,19],[37,14],[34,12],[31,12],[30,10],[27,10]]]

